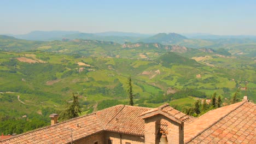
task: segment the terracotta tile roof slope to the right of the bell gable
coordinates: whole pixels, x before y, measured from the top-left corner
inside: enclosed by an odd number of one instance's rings
[[[210,111],[186,125],[184,142],[256,143],[255,122],[256,105],[242,101]]]

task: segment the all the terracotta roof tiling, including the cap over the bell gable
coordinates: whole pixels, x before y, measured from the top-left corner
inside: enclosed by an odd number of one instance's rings
[[[159,114],[184,122],[184,142],[255,143],[255,104],[245,101],[212,110],[199,118],[185,115],[167,104],[155,109],[117,105],[17,135],[0,143],[68,143],[71,142],[71,133],[73,141],[76,141],[103,130],[143,136],[143,118]],[[160,122],[161,128],[165,129],[166,121]]]

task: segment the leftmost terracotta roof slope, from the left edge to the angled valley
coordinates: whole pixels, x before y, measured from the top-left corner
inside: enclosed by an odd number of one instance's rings
[[[78,124],[78,125],[77,125]],[[78,127],[77,127],[78,126]],[[95,113],[11,137],[0,143],[68,143],[102,131]]]

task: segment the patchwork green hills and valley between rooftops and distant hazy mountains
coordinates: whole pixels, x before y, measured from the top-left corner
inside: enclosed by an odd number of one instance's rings
[[[255,60],[248,57],[177,45],[83,39],[43,42],[2,36],[0,44],[4,134],[47,125],[49,113],[57,113],[72,92],[79,95],[84,114],[128,104],[130,75],[138,106],[170,103],[181,110],[214,92],[228,103],[244,81],[249,82],[249,99],[255,101]],[[240,93],[242,98],[245,91],[241,88]]]

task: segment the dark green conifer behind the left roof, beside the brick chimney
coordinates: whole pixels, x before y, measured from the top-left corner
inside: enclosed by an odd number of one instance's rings
[[[78,117],[78,113],[82,113],[81,107],[79,105],[78,96],[75,96],[73,93],[73,101],[72,103],[66,103],[64,106],[65,109],[60,113],[60,120],[68,120],[71,118]]]

